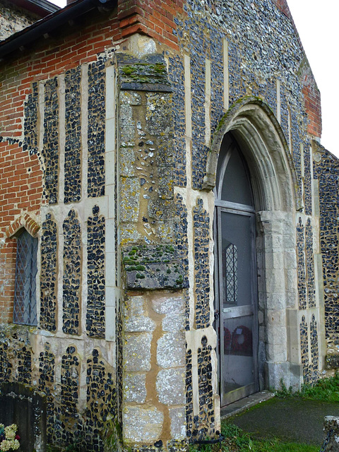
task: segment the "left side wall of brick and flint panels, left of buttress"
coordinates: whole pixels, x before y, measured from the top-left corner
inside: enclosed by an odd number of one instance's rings
[[[103,52],[116,23],[102,26],[5,64],[0,95],[0,379],[46,393],[49,443],[88,450],[118,411],[116,101]],[[11,323],[16,234],[32,221],[38,328]]]

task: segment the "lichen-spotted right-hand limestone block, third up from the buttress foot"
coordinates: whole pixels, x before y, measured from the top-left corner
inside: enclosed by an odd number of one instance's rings
[[[157,364],[165,369],[169,367],[184,366],[184,333],[165,333],[157,341]]]

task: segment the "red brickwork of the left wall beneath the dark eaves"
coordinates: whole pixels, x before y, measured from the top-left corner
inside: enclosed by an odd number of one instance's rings
[[[97,20],[72,28],[66,37],[40,40],[25,56],[0,63],[0,322],[11,322],[16,264],[16,239],[6,230],[20,215],[40,213],[42,169],[36,155],[24,151],[23,115],[32,83],[52,78],[113,47],[121,39],[117,11],[97,13]],[[8,141],[9,140],[9,141]],[[30,171],[28,172],[28,169]]]

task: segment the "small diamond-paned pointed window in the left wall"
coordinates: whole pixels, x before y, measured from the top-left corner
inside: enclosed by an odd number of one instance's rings
[[[13,322],[37,325],[37,239],[24,231],[17,239]]]

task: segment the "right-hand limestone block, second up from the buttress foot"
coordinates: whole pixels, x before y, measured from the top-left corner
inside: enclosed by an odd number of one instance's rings
[[[164,369],[157,374],[157,396],[165,405],[184,405],[185,369]]]

